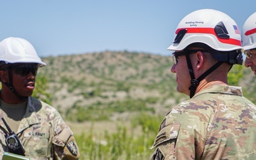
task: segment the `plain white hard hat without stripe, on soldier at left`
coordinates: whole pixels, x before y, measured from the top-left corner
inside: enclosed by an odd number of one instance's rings
[[[35,48],[23,38],[9,37],[0,42],[0,61],[7,63],[38,63],[43,67]]]

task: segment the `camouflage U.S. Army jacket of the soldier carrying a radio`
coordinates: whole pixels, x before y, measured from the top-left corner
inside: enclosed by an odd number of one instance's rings
[[[0,117],[3,117],[2,111]],[[2,120],[0,125],[6,129]],[[4,132],[1,130],[0,132],[0,155],[2,155],[4,151],[9,150]],[[31,160],[75,160],[79,157],[73,132],[60,117],[59,112],[33,97],[28,97],[26,114],[21,119],[16,134],[26,150],[26,156]]]

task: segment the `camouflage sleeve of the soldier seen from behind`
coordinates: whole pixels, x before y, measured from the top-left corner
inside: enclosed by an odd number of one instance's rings
[[[172,110],[161,123],[151,149],[155,148],[151,160],[156,159],[200,159],[206,137],[208,123],[195,112]]]

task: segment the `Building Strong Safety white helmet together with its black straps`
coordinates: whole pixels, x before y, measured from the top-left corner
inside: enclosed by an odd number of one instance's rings
[[[210,53],[218,62],[206,73],[195,78],[191,65],[191,53],[198,51]],[[190,96],[196,92],[199,82],[220,67],[230,70],[232,65],[242,65],[241,37],[237,23],[227,14],[214,9],[201,9],[185,16],[176,28],[174,41],[168,50],[176,51],[174,56],[186,55],[188,70],[191,75]],[[228,74],[228,73],[227,73]]]

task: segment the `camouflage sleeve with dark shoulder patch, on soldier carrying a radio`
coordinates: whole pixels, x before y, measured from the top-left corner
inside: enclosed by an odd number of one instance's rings
[[[53,137],[53,152],[56,160],[78,160],[80,156],[78,145],[68,126],[65,125],[64,129]]]

